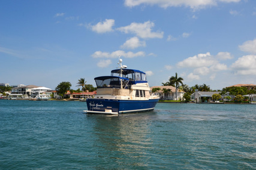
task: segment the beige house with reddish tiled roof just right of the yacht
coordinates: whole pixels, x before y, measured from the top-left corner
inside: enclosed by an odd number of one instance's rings
[[[174,86],[152,86],[150,90],[152,91],[153,88],[160,88],[159,91],[155,92],[156,95],[159,95],[160,100],[179,100],[185,94],[185,92],[178,89],[176,97],[176,88]],[[164,92],[164,88],[170,89],[170,92]]]

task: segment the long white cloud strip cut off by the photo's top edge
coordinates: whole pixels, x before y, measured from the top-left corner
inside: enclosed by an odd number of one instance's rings
[[[218,2],[239,2],[240,0],[125,0],[127,7],[135,7],[141,4],[158,5],[161,8],[185,6],[194,10],[217,5]]]

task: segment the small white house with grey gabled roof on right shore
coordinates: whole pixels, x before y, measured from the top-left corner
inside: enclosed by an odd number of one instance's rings
[[[191,100],[194,100],[195,103],[210,103],[212,95],[219,93],[221,93],[221,91],[198,91],[198,89],[196,89],[195,92],[191,94]]]

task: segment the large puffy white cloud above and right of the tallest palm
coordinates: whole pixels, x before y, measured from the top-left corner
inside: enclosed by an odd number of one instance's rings
[[[217,63],[211,55],[210,52],[206,54],[198,54],[193,57],[188,57],[183,61],[177,63],[178,67],[207,67],[212,66],[212,64]]]

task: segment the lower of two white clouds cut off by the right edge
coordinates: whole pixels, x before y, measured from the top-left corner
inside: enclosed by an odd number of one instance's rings
[[[256,55],[244,55],[238,58],[232,65],[236,75],[256,75]]]

